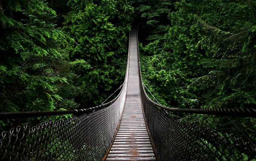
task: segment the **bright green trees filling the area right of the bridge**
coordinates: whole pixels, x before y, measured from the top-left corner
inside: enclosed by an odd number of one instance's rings
[[[160,103],[178,108],[255,107],[255,4],[174,3],[168,32],[141,45],[143,81]],[[184,116],[255,143],[254,118]]]

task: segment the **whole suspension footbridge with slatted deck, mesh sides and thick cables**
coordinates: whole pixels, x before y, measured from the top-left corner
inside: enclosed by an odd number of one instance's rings
[[[146,94],[137,30],[130,32],[126,76],[114,100],[80,110],[0,113],[0,119],[73,114],[24,124],[0,136],[1,161],[222,161],[256,160],[251,142],[182,121],[178,112],[256,117],[255,109],[176,109]]]

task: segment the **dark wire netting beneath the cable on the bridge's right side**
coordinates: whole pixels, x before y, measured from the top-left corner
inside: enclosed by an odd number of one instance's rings
[[[161,161],[256,160],[250,142],[182,121],[155,106],[142,92],[146,122]]]

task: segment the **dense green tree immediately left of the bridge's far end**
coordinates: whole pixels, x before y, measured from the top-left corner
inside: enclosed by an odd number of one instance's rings
[[[128,1],[114,0],[72,0],[69,4],[64,29],[73,39],[67,49],[79,76],[75,85],[81,93],[76,100],[82,107],[93,106],[123,81],[133,8]]]

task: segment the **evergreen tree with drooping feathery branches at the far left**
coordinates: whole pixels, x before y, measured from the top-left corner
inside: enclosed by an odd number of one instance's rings
[[[0,10],[1,112],[77,107],[63,92],[75,75],[61,50],[66,37],[52,23],[56,12],[44,0],[2,0]]]

